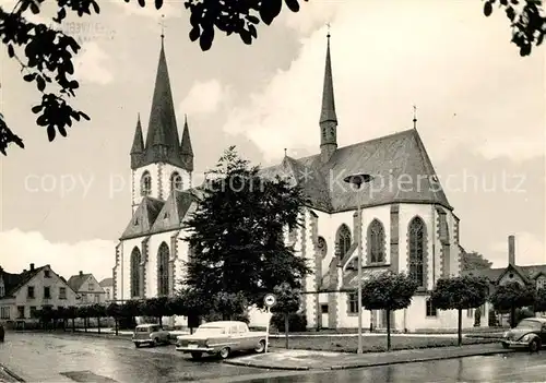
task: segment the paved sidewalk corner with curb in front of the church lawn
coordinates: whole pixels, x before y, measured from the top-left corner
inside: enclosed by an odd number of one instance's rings
[[[363,367],[508,354],[513,351],[513,349],[503,349],[499,344],[435,347],[391,352],[367,352],[363,355],[275,349],[273,352],[269,351],[268,354],[228,359],[224,362],[234,366],[273,370],[344,370]]]

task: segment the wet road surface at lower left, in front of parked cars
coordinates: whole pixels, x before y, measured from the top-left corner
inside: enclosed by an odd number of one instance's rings
[[[127,339],[9,333],[0,363],[27,382],[183,382],[265,373],[215,359],[192,361],[171,346],[135,349]]]

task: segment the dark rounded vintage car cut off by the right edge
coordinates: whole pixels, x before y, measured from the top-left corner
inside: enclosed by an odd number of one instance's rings
[[[502,347],[522,347],[530,351],[538,351],[546,345],[546,318],[527,318],[518,326],[507,331],[500,340]]]

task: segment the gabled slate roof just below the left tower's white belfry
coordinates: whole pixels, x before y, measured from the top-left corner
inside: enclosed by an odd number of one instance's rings
[[[197,189],[190,189],[174,191],[167,201],[144,198],[120,240],[181,229],[192,203],[198,200],[197,194]]]

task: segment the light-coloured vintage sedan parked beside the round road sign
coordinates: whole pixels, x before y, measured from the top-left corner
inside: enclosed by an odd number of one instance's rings
[[[199,326],[192,335],[177,337],[176,350],[200,359],[203,354],[226,359],[233,351],[263,352],[265,332],[250,332],[245,322],[209,322]]]

